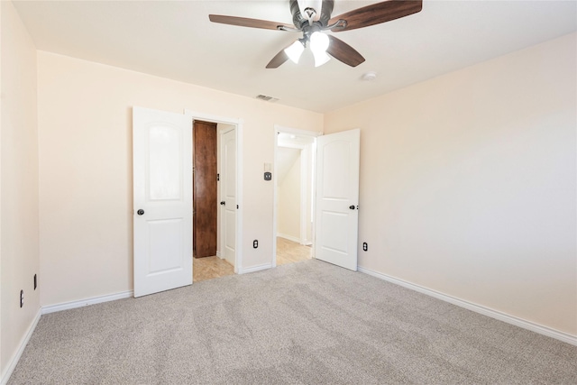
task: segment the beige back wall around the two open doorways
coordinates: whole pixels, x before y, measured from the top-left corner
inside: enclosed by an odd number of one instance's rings
[[[243,119],[244,269],[270,263],[274,124],[323,126],[309,111],[39,51],[42,306],[133,289],[133,105]]]

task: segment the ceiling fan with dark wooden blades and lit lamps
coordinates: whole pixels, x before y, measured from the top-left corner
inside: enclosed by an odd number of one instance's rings
[[[294,26],[286,23],[246,17],[209,14],[213,23],[238,25],[241,27],[261,28],[285,32],[302,32],[303,37],[293,41],[288,47],[280,50],[267,64],[267,69],[276,69],[287,60],[298,62],[307,44],[315,56],[315,66],[324,64],[330,58],[356,67],[364,61],[362,55],[349,44],[325,34],[325,31],[343,32],[370,25],[389,22],[409,14],[416,14],[423,7],[422,0],[388,0],[367,5],[353,11],[331,17],[334,0],[290,0],[290,13]]]

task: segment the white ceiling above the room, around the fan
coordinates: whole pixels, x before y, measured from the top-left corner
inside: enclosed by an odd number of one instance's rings
[[[376,1],[335,0],[333,16]],[[210,23],[226,14],[291,23],[289,0],[14,1],[39,50],[317,112],[379,96],[577,28],[577,2],[424,0],[418,14],[336,33],[366,59],[265,69],[298,33]],[[378,78],[362,80],[375,71]],[[262,102],[267,103],[267,102]]]

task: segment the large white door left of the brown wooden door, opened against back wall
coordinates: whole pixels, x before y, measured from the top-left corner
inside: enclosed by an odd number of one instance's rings
[[[133,107],[134,297],[192,284],[192,122]]]

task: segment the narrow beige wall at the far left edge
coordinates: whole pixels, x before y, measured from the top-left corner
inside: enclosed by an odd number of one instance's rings
[[[40,311],[36,49],[10,2],[1,3],[0,379]],[[39,282],[42,284],[41,276]],[[20,290],[24,306],[20,307]]]

